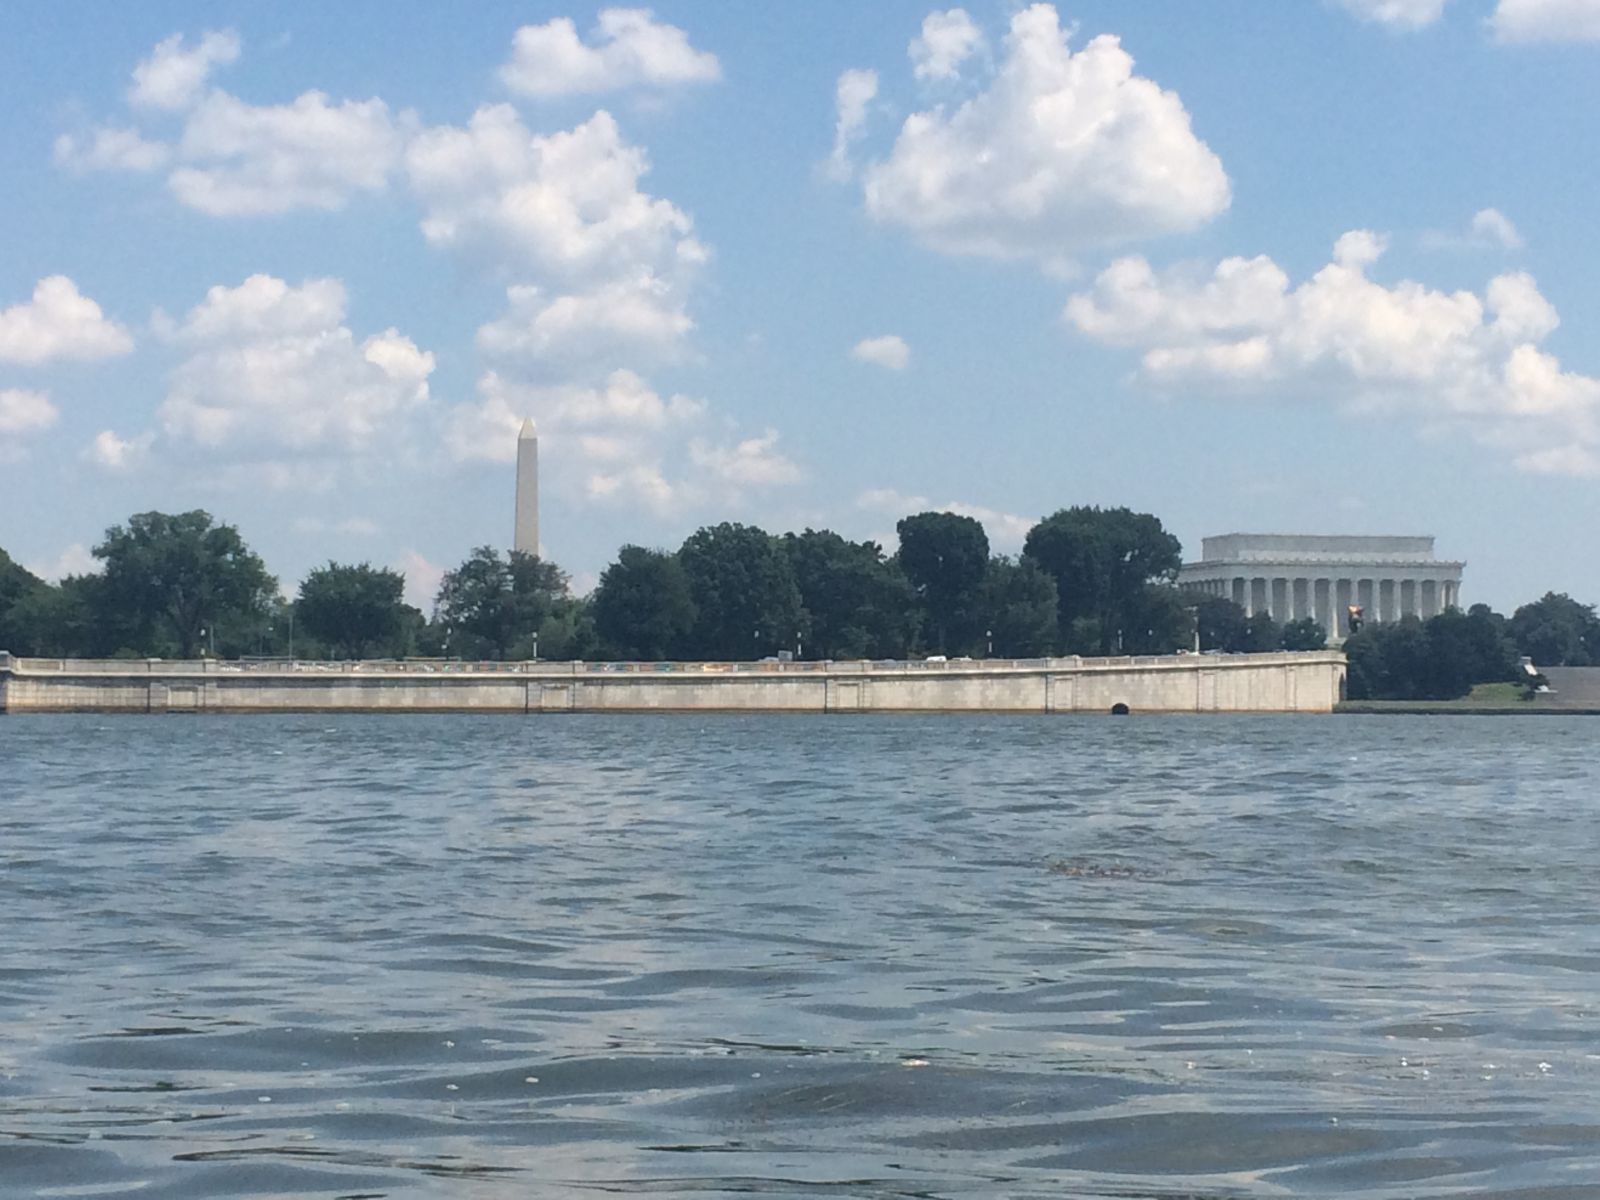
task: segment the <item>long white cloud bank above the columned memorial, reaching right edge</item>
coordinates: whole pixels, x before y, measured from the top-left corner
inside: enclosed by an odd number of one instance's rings
[[[1560,318],[1533,277],[1498,275],[1482,296],[1390,286],[1368,275],[1382,250],[1376,234],[1346,234],[1298,286],[1267,258],[1210,272],[1128,258],[1066,320],[1141,350],[1150,382],[1333,397],[1462,427],[1530,470],[1586,469],[1600,453],[1600,381],[1539,349]]]

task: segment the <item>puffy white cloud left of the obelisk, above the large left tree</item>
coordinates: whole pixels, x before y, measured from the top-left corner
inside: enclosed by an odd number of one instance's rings
[[[366,448],[427,403],[434,355],[395,330],[358,342],[342,322],[339,280],[211,288],[173,334],[190,357],[163,429],[205,446]]]

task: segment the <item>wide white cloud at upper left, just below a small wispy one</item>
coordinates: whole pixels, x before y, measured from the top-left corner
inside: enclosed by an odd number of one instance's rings
[[[210,93],[189,114],[168,178],[173,195],[208,216],[338,210],[381,192],[400,162],[405,125],[381,99],[333,104],[307,91],[290,104]]]

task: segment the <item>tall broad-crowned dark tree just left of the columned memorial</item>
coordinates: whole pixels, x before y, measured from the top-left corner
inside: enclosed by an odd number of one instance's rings
[[[1147,512],[1074,507],[1029,530],[1022,557],[1056,581],[1069,650],[1110,654],[1126,630],[1149,627],[1147,606],[1160,600],[1146,589],[1178,578],[1181,547]]]

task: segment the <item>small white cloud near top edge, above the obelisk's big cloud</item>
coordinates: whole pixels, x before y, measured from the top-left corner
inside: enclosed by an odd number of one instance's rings
[[[717,56],[694,50],[675,26],[661,24],[648,8],[605,8],[592,43],[578,37],[570,18],[523,26],[501,82],[523,96],[571,96],[635,86],[715,83]]]

